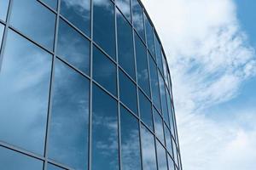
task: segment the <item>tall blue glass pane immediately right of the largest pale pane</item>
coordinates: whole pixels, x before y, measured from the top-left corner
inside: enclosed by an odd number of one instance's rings
[[[89,81],[56,59],[49,158],[75,169],[87,167]]]

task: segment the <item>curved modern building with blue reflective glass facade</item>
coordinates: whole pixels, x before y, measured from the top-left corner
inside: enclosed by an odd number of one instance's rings
[[[181,170],[139,0],[0,0],[1,170]]]

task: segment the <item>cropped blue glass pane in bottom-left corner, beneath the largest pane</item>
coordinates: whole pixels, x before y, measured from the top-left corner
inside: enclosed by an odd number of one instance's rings
[[[25,156],[14,150],[0,147],[0,169],[3,170],[43,170],[43,161]]]

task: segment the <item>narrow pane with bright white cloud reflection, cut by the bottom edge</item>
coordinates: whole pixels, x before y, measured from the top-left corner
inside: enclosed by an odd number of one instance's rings
[[[156,170],[154,136],[146,127],[141,128],[143,147],[143,170]]]

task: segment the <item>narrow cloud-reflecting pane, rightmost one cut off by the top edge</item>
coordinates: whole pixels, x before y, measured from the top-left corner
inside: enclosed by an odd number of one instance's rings
[[[144,22],[143,22],[143,8],[137,0],[131,0],[132,4],[132,20],[133,26],[136,31],[145,41],[145,31],[144,31]]]

